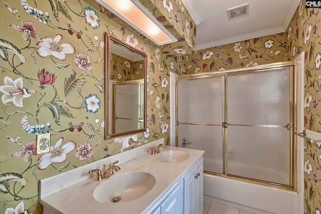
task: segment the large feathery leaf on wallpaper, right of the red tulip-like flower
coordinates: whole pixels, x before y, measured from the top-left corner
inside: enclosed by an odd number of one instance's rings
[[[76,91],[82,89],[83,85],[85,84],[86,79],[84,78],[76,79],[76,75],[77,73],[74,70],[70,70],[67,77],[65,78],[65,84],[64,84],[65,97],[75,94]]]

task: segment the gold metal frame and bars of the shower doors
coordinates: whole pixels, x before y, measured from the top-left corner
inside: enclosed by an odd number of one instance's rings
[[[234,124],[228,124],[227,123],[227,75],[229,74],[236,74],[236,73],[249,73],[249,72],[259,72],[259,71],[267,71],[267,70],[276,70],[280,68],[289,68],[290,69],[290,121],[289,124],[286,128],[290,130],[290,182],[289,185],[285,184],[279,184],[279,183],[274,183],[274,182],[269,182],[269,181],[264,181],[264,180],[258,180],[258,179],[252,179],[248,177],[242,177],[242,176],[237,176],[237,175],[231,175],[228,174],[228,167],[227,167],[227,126],[228,125],[234,125]],[[276,187],[279,189],[286,189],[286,190],[291,190],[291,191],[296,191],[296,138],[294,137],[294,132],[296,132],[296,63],[295,62],[282,62],[282,63],[273,63],[273,64],[267,64],[267,65],[260,65],[260,66],[255,66],[255,67],[247,67],[247,68],[239,68],[239,69],[230,69],[230,70],[224,70],[224,71],[212,71],[212,72],[207,72],[207,73],[199,73],[199,74],[191,74],[191,75],[181,75],[177,76],[175,78],[175,88],[176,88],[176,109],[175,109],[175,114],[176,114],[176,146],[178,147],[178,131],[179,131],[179,124],[186,124],[186,125],[206,125],[206,126],[222,126],[223,127],[223,173],[216,173],[216,172],[210,172],[204,170],[205,173],[213,174],[216,176],[221,176],[225,178],[230,178],[230,179],[235,179],[235,180],[240,180],[240,181],[246,181],[250,183],[255,183],[255,184],[260,184],[260,185],[265,185],[265,186],[270,186],[270,187]],[[207,78],[207,77],[217,77],[217,76],[222,76],[222,124],[208,124],[208,123],[180,123],[178,121],[178,81],[179,80],[186,80],[186,79],[197,79],[197,78]],[[241,124],[238,124],[241,125]],[[253,125],[255,126],[255,125]],[[277,126],[277,125],[256,125],[256,126],[261,126],[261,127],[285,127],[285,126]]]

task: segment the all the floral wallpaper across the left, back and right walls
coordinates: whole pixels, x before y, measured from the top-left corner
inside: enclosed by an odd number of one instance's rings
[[[180,1],[157,2],[157,7],[164,7],[161,11],[173,6],[167,18],[182,12]],[[164,137],[170,143],[171,71],[184,75],[282,62],[302,51],[306,52],[305,128],[319,131],[319,10],[305,9],[304,3],[283,34],[189,55],[185,50],[194,44],[156,47],[83,0],[11,0],[0,5],[0,212],[42,213],[39,179],[122,152],[120,138],[103,140],[104,32],[147,54],[148,122],[139,140]],[[184,31],[183,38],[187,28],[195,26],[187,25],[189,17],[182,19],[177,29]],[[196,32],[192,35],[196,41]],[[52,135],[52,152],[37,156],[36,133],[46,132]],[[320,151],[316,145],[305,147],[305,210],[319,213]]]

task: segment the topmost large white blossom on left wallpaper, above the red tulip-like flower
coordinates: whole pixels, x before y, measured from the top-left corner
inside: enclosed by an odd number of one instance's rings
[[[51,55],[58,60],[66,60],[66,54],[74,54],[75,48],[70,43],[58,45],[60,40],[62,40],[61,34],[57,34],[54,39],[43,38],[42,42],[37,43],[38,46],[41,46],[37,50],[37,54],[43,58]]]

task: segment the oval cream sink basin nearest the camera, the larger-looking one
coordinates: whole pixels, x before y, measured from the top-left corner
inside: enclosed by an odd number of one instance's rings
[[[146,194],[155,182],[155,177],[147,172],[126,172],[107,178],[95,188],[93,195],[101,203],[125,203]]]

